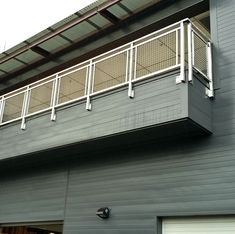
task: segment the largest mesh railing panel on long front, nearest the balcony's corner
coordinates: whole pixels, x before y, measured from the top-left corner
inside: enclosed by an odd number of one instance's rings
[[[137,46],[136,78],[176,65],[176,32]]]

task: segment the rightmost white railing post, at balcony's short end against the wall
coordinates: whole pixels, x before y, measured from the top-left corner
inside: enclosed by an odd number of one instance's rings
[[[214,97],[211,42],[207,43],[207,73],[209,78],[209,89],[206,90],[206,94],[208,97]]]

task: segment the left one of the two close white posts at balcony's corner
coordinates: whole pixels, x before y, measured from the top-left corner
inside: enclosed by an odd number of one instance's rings
[[[180,23],[180,75],[176,77],[176,84],[185,82],[184,41],[184,21],[182,21]]]

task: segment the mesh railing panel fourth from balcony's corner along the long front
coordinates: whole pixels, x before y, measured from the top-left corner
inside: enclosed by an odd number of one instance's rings
[[[28,114],[50,107],[53,82],[32,88]]]

